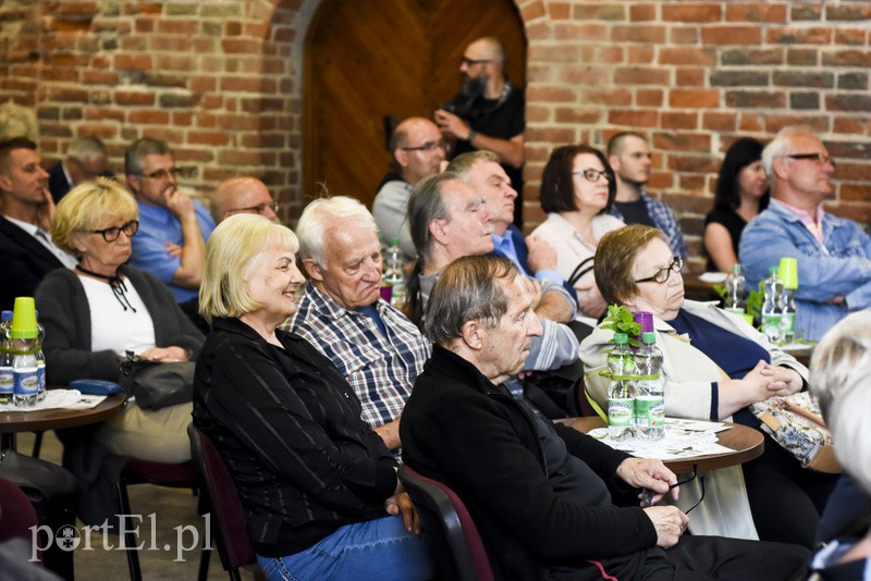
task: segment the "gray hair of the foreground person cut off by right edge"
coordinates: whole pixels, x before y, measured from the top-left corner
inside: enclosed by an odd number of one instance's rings
[[[841,466],[871,493],[871,311],[847,316],[829,330],[810,362],[811,392],[820,399]]]

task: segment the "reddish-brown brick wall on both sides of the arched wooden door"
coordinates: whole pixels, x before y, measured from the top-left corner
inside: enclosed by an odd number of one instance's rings
[[[410,0],[409,0],[410,1]],[[302,206],[303,39],[318,0],[0,4],[0,102],[34,107],[59,158],[101,136],[121,169],[139,136],[169,140],[187,183],[252,173]],[[528,49],[527,203],[555,145],[634,128],[654,149],[653,191],[691,251],[723,151],[738,136],[814,127],[838,159],[830,209],[871,222],[867,1],[519,0]],[[361,15],[364,17],[365,15]]]

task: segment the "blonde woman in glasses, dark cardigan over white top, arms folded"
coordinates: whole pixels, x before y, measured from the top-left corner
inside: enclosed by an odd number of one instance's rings
[[[203,346],[205,337],[167,286],[125,265],[137,218],[133,196],[105,177],[79,184],[58,203],[51,238],[78,264],[52,271],[36,292],[48,383],[116,382],[127,350],[152,361],[184,361]],[[91,435],[115,455],[183,462],[191,458],[189,421],[189,403],[148,411],[132,400]],[[79,482],[87,491],[87,481]]]

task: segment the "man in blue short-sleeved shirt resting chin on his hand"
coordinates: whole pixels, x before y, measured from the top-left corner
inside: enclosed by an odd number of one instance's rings
[[[214,221],[201,203],[179,191],[179,169],[165,143],[150,137],[133,141],[124,153],[124,171],[139,203],[131,265],[163,281],[176,301],[195,302]]]

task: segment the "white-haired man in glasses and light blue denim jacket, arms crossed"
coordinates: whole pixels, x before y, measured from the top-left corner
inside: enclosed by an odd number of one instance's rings
[[[871,237],[823,211],[835,161],[806,128],[785,127],[762,151],[771,203],[747,224],[739,257],[749,288],[781,258],[797,259],[796,330],[819,341],[849,311],[871,307]]]

